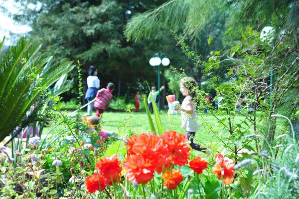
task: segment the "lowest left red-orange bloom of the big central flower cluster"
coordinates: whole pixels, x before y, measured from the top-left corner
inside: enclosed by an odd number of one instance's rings
[[[128,156],[124,161],[127,179],[131,183],[147,184],[153,178],[154,166],[141,155]]]

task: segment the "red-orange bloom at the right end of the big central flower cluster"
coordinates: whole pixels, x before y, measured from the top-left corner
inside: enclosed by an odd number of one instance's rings
[[[183,166],[188,163],[191,154],[187,138],[175,131],[165,131],[161,136],[172,158],[173,165]]]

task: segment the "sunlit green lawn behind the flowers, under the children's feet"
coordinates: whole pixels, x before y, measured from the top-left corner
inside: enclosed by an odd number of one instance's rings
[[[68,114],[70,112],[66,112]],[[84,114],[85,112],[82,112]],[[106,131],[114,131],[117,132],[119,130],[123,131],[124,127],[123,125],[126,123],[126,120],[128,119],[129,115],[132,114],[132,117],[130,121],[128,122],[128,126],[126,127],[126,132],[131,131],[134,134],[140,134],[140,133],[149,133],[150,127],[148,118],[145,112],[104,112],[103,115],[103,121],[102,128]],[[95,115],[95,112],[93,113]],[[152,115],[152,117],[154,117]],[[168,117],[166,111],[160,111],[160,117],[163,125],[164,131],[169,130],[175,130],[178,133],[185,134],[185,129],[181,128],[181,118],[180,115],[170,115]],[[195,143],[199,143],[203,146],[208,145],[211,146],[217,146],[219,147],[221,145],[221,139],[225,139],[228,136],[228,131],[223,131],[223,128],[221,126],[217,125],[217,120],[213,117],[211,114],[203,114],[199,113],[198,115],[200,127],[199,130],[196,132],[195,135]],[[244,116],[238,116],[236,118],[237,120],[244,119]],[[214,133],[207,127],[205,122],[208,124],[208,126],[211,126],[216,132],[217,136],[215,136]],[[53,125],[53,124],[52,124]],[[51,126],[52,126],[51,125]],[[45,132],[43,134],[46,134],[49,127],[45,129]],[[217,138],[218,137],[218,138]]]

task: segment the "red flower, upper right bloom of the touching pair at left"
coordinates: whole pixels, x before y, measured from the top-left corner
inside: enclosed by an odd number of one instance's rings
[[[113,182],[120,182],[121,180],[120,174],[122,168],[120,167],[120,164],[121,161],[118,159],[118,156],[114,155],[100,159],[99,162],[96,162],[96,167],[107,179],[107,184],[112,185],[111,179]]]

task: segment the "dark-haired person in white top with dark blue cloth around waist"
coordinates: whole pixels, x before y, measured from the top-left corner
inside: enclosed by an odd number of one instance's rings
[[[100,88],[100,80],[97,76],[98,74],[98,69],[94,66],[90,66],[89,71],[88,71],[88,77],[87,77],[87,91],[85,95],[85,99],[90,102],[93,100],[96,95],[97,91]],[[87,113],[88,115],[92,115],[92,108],[93,108],[93,103],[90,103],[87,106]]]

